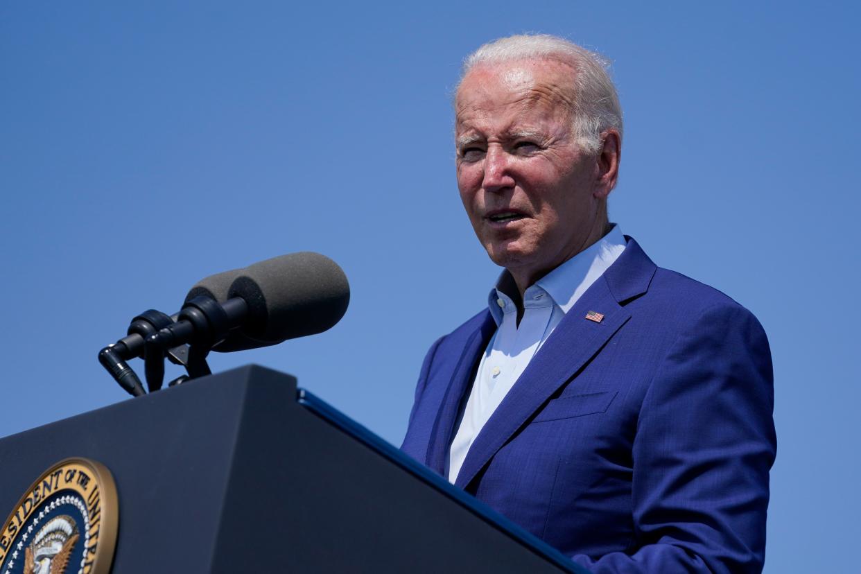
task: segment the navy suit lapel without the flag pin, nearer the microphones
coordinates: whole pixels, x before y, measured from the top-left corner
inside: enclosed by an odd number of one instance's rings
[[[466,394],[472,383],[473,370],[480,354],[487,348],[487,343],[496,330],[490,312],[486,312],[484,321],[479,328],[468,335],[467,343],[455,365],[454,373],[449,381],[449,386],[443,396],[443,404],[437,414],[431,431],[431,441],[428,444],[426,454],[426,465],[430,466],[440,474],[445,473],[446,457],[449,454],[452,432],[454,431],[455,419],[460,410],[461,399]]]

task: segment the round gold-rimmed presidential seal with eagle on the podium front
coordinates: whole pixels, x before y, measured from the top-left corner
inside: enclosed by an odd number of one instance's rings
[[[117,497],[105,466],[66,459],[49,468],[0,530],[0,574],[108,574]]]

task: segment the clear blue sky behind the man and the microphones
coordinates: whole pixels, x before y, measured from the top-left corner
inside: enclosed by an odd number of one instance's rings
[[[766,571],[857,572],[858,16],[848,2],[0,3],[0,435],[124,400],[96,352],[138,312],[316,250],[350,277],[344,320],[211,363],[294,373],[400,443],[425,350],[497,274],[455,187],[461,59],[561,34],[614,62],[611,219],[771,340]]]

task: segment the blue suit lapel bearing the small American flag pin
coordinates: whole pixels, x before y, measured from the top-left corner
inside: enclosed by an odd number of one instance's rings
[[[465,489],[523,423],[628,322],[631,314],[620,303],[645,293],[655,269],[640,246],[629,239],[623,254],[567,312],[505,395],[469,447],[455,485]],[[600,323],[588,320],[585,315],[590,311],[603,313],[604,318]]]

